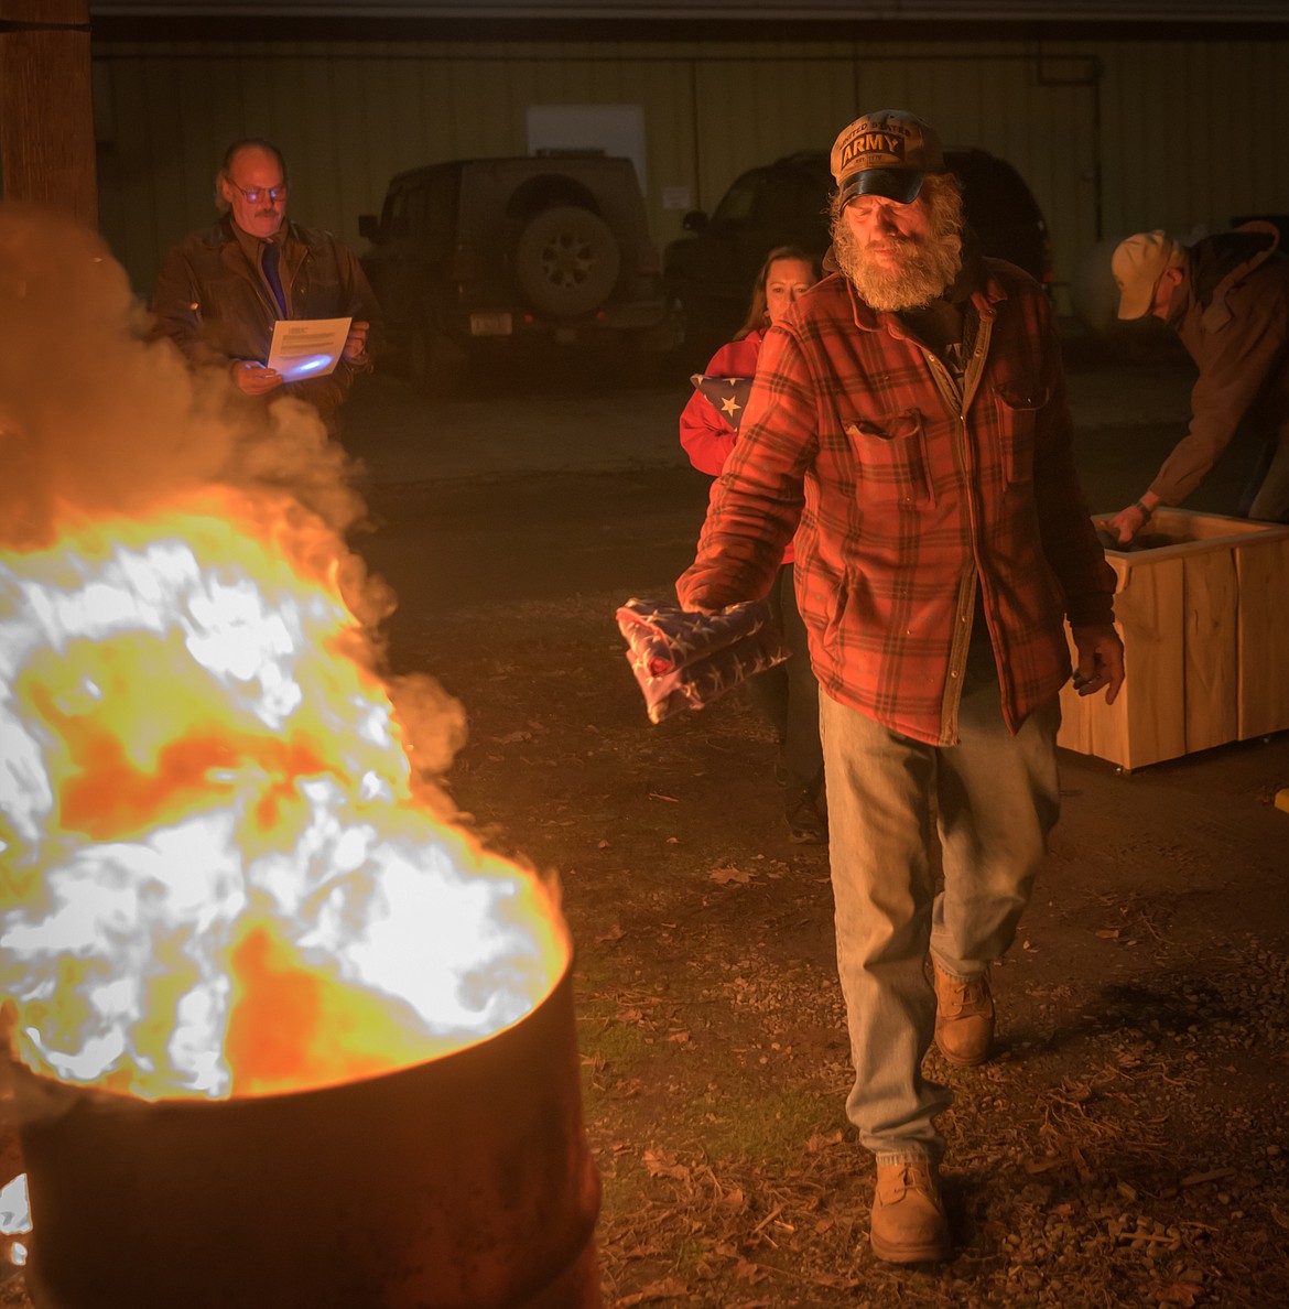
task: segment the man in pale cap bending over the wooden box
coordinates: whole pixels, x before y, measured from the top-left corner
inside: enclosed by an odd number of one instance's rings
[[[1260,445],[1237,513],[1289,522],[1289,257],[1271,223],[1184,246],[1162,230],[1115,247],[1119,317],[1156,317],[1199,368],[1191,423],[1150,486],[1111,520],[1128,545],[1161,505],[1180,504],[1247,424]]]

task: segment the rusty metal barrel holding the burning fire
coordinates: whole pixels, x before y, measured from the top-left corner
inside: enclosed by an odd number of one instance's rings
[[[143,1101],[14,1069],[38,1309],[598,1309],[569,973],[378,1077]]]

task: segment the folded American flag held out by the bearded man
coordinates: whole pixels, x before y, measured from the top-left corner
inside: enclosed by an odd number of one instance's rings
[[[716,614],[628,600],[616,618],[650,723],[701,709],[789,654],[764,600]]]

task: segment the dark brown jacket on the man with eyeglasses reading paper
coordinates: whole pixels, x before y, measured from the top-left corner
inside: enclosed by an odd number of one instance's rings
[[[380,306],[353,254],[328,232],[287,223],[279,233],[280,279],[288,318],[355,318],[378,329]],[[254,249],[254,242],[247,242]],[[152,297],[153,336],[169,336],[194,364],[228,368],[268,359],[279,313],[268,287],[225,215],[185,237],[165,258]],[[331,425],[357,373],[370,361],[342,359],[326,377],[288,382],[268,399],[294,395]]]

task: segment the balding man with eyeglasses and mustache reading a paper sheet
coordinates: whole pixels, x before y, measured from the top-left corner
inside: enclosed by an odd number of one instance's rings
[[[287,221],[287,162],[259,137],[234,141],[215,179],[220,221],[168,255],[152,297],[156,336],[199,365],[228,369],[250,397],[294,395],[327,429],[353,378],[370,372],[380,306],[353,254],[328,232]],[[279,318],[352,318],[335,369],[288,382],[266,367]]]

